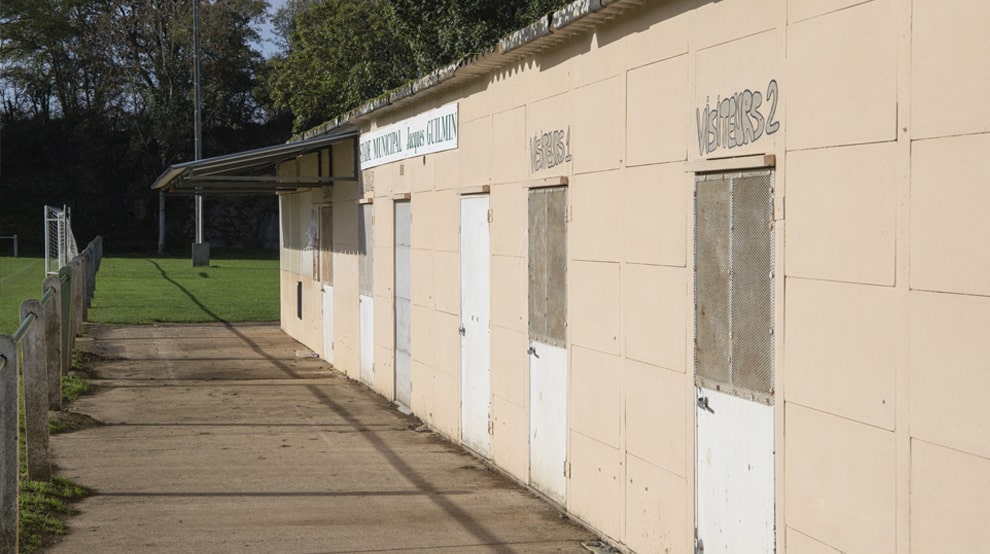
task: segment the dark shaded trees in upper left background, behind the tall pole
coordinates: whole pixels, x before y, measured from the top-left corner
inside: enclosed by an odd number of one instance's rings
[[[108,244],[155,243],[148,187],[169,164],[193,159],[192,2],[0,2],[0,202],[17,214],[0,232],[37,227],[42,203],[67,203],[74,224]],[[204,153],[284,140],[269,68],[252,47],[267,0],[200,2]],[[170,234],[191,229],[192,210],[170,208]]]

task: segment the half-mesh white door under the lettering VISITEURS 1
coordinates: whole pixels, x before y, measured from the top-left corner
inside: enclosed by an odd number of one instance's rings
[[[567,480],[567,189],[529,192],[529,478],[564,503]]]

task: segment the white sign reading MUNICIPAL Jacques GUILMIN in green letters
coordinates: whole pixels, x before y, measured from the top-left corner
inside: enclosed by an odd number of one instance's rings
[[[361,135],[361,169],[457,148],[457,103]]]

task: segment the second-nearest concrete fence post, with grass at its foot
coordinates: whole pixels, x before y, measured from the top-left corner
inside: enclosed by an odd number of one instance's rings
[[[21,338],[21,378],[24,384],[24,434],[27,439],[28,479],[51,481],[48,457],[48,367],[45,360],[45,322],[41,302],[21,302],[21,321],[30,315],[34,325]]]

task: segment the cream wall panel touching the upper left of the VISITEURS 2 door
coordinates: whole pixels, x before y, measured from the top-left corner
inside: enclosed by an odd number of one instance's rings
[[[692,175],[671,163],[628,168],[622,181],[625,261],[684,267]]]

